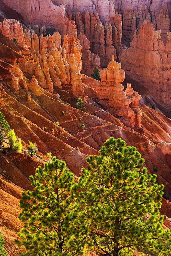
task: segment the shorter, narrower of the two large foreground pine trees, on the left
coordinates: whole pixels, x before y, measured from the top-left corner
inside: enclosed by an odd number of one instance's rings
[[[79,218],[81,206],[75,202],[77,183],[65,162],[53,157],[44,169],[30,176],[33,191],[22,191],[19,219],[24,228],[18,233],[27,252],[21,255],[83,255],[89,229]]]

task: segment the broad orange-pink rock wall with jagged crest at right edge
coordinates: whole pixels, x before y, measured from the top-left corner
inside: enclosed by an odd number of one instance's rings
[[[134,34],[129,49],[119,55],[123,69],[129,76],[139,81],[162,105],[171,109],[171,33],[166,46],[161,39],[161,31],[152,24],[143,22],[139,35]]]

